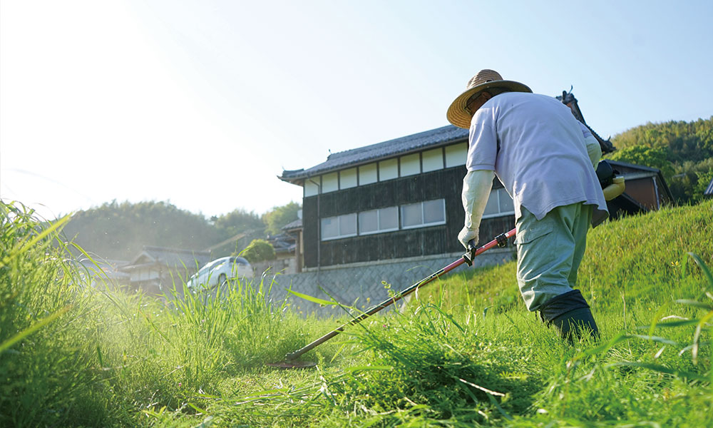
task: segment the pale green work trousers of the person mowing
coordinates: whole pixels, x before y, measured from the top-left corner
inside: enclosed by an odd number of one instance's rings
[[[515,222],[518,285],[528,310],[573,290],[587,247],[593,205],[574,203],[553,208],[542,220],[521,207]]]

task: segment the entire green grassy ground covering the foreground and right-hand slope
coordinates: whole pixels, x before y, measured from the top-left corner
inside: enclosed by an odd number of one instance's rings
[[[264,364],[345,320],[305,320],[270,302],[269,278],[236,283],[219,300],[168,305],[89,287],[56,230],[15,205],[0,208],[1,426],[713,420],[711,200],[590,231],[579,287],[599,342],[569,345],[527,312],[510,263],[443,277],[403,312],[370,317],[308,352],[315,369],[285,371]]]

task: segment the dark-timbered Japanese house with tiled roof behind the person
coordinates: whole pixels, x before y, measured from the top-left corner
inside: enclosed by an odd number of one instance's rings
[[[584,123],[571,92],[557,98]],[[614,150],[608,139],[593,134],[603,153]],[[463,227],[467,151],[468,130],[448,125],[332,153],[312,168],[284,170],[281,180],[303,188],[297,245],[302,266],[309,270],[462,252],[457,236]],[[657,209],[671,199],[658,170],[625,163],[617,168],[627,178],[623,200],[610,205],[617,215]],[[514,224],[513,200],[496,178],[480,244]]]

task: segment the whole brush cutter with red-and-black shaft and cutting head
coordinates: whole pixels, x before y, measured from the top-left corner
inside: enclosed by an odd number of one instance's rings
[[[376,312],[379,312],[380,310],[384,309],[385,307],[389,307],[390,305],[393,305],[394,303],[398,302],[399,300],[403,299],[407,295],[410,295],[412,292],[416,291],[421,287],[422,285],[426,285],[429,282],[435,280],[438,277],[441,277],[442,275],[445,275],[448,272],[451,272],[451,270],[455,269],[456,267],[462,265],[463,263],[466,263],[466,265],[471,266],[473,265],[473,258],[476,257],[476,255],[480,255],[482,253],[485,253],[487,250],[490,250],[491,248],[495,246],[499,247],[504,247],[508,243],[508,238],[512,238],[515,236],[515,229],[507,232],[507,233],[501,233],[498,235],[495,239],[491,240],[491,242],[487,243],[486,245],[483,245],[480,248],[476,249],[476,243],[471,240],[468,243],[468,250],[465,254],[463,254],[463,257],[459,258],[455,262],[451,263],[450,265],[441,268],[441,270],[438,270],[428,277],[425,277],[423,280],[420,280],[419,282],[416,282],[414,285],[411,285],[411,287],[406,288],[406,290],[403,290],[399,292],[398,294],[394,295],[394,297],[389,297],[389,299],[384,300],[384,302],[379,303],[379,305],[373,306],[369,308],[369,310],[366,310],[363,314],[359,315],[359,317],[355,317],[353,320],[347,322],[346,324],[342,325],[341,327],[337,327],[336,329],[332,330],[331,332],[327,333],[326,335],[319,337],[319,339],[315,340],[314,342],[310,343],[309,345],[306,345],[299,350],[296,350],[294,352],[289,352],[287,355],[284,356],[284,360],[279,361],[279,362],[270,362],[267,363],[268,366],[270,367],[279,367],[282,369],[297,369],[297,368],[305,368],[305,367],[314,367],[317,365],[316,362],[304,362],[304,361],[297,361],[297,358],[299,358],[302,354],[305,352],[308,352],[314,347],[317,347],[318,345],[322,345],[322,343],[327,342],[327,340],[332,339],[332,337],[338,335],[346,327],[349,327],[349,325],[354,325],[358,324],[361,321],[366,320],[366,318],[371,317],[371,315],[374,315]]]

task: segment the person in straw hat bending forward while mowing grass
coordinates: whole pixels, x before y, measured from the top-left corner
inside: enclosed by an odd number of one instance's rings
[[[492,70],[473,76],[446,116],[470,130],[458,240],[466,248],[478,242],[494,172],[515,203],[517,277],[528,310],[568,340],[598,337],[574,290],[589,225],[609,215],[594,168],[602,156],[597,140],[563,103]]]

